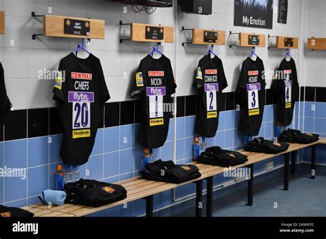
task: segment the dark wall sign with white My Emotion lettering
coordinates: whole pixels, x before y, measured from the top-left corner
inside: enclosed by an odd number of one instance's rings
[[[235,25],[273,28],[273,0],[235,0]]]

